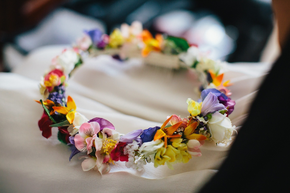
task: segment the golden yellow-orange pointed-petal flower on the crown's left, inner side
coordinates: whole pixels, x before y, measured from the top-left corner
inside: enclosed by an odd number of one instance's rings
[[[75,118],[76,112],[76,103],[72,97],[67,97],[67,107],[66,106],[53,106],[52,107],[56,112],[66,115],[66,119],[72,124]]]

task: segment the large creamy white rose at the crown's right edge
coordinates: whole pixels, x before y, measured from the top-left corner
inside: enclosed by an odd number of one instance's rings
[[[226,114],[215,112],[212,114],[212,118],[208,120],[209,130],[211,138],[214,142],[223,142],[231,139],[235,126],[232,126],[230,119],[226,117]]]

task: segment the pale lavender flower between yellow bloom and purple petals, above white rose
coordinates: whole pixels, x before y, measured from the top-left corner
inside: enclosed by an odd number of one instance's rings
[[[201,105],[201,114],[207,115],[208,113],[212,113],[214,111],[218,111],[221,109],[226,109],[225,106],[219,103],[218,97],[216,97],[213,93],[208,93],[203,100]]]

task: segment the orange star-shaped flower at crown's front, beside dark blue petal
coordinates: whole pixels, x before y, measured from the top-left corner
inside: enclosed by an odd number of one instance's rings
[[[175,137],[181,137],[181,135],[179,134],[174,134],[173,133],[178,129],[178,127],[182,124],[182,122],[176,123],[175,125],[172,125],[170,127],[166,127],[167,123],[170,121],[170,119],[172,118],[173,115],[171,115],[171,117],[169,117],[161,126],[160,129],[158,129],[154,135],[154,141],[161,139],[164,137],[164,142],[165,142],[165,147],[167,146],[167,138],[175,138]]]

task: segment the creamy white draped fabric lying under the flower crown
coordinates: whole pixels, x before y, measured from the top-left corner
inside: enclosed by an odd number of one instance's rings
[[[177,163],[174,170],[149,163],[145,172],[137,172],[117,162],[101,176],[82,171],[78,155],[69,162],[70,151],[57,140],[57,129],[51,138],[42,137],[37,122],[43,109],[34,102],[41,98],[40,77],[62,48],[38,49],[14,73],[0,73],[0,192],[196,192],[213,176],[229,146],[207,142],[201,157]],[[264,64],[243,65],[230,65],[225,74],[234,83],[230,89],[237,104],[229,118],[236,126],[242,125],[268,70]],[[137,59],[122,63],[102,55],[85,59],[66,94],[88,119],[108,119],[126,134],[161,126],[167,115],[186,117],[186,99],[198,99],[198,86],[196,75],[187,70],[143,65]]]

